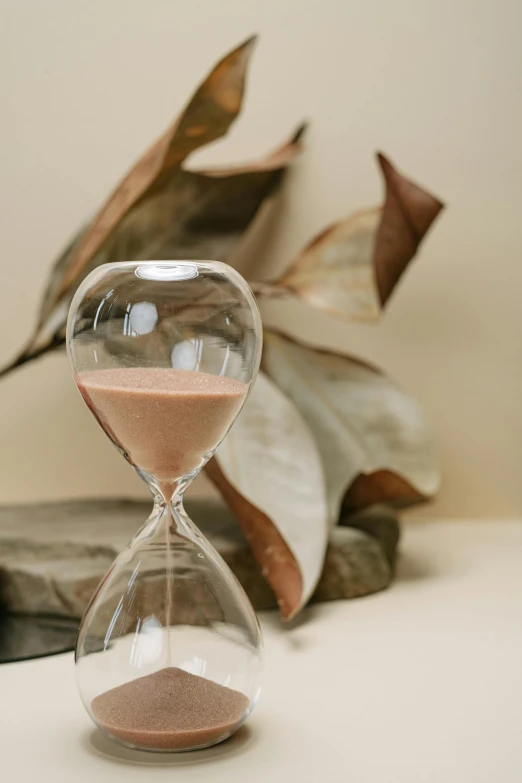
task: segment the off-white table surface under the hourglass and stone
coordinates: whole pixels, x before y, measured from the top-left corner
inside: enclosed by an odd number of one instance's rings
[[[410,523],[402,552],[385,593],[263,616],[259,706],[207,751],[105,740],[70,654],[0,666],[0,779],[520,783],[522,523]]]

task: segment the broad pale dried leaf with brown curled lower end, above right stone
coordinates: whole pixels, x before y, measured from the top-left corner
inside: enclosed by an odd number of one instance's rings
[[[345,497],[357,509],[435,493],[438,473],[419,406],[381,372],[274,332],[265,332],[262,366],[315,437],[331,522]]]

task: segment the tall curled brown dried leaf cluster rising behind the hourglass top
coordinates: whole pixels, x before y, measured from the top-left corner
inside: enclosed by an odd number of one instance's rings
[[[301,126],[282,147],[243,166],[205,171],[180,167],[190,151],[222,136],[237,116],[252,42],[214,68],[154,146],[154,155],[149,151],[142,158],[93,223],[66,248],[51,273],[35,334],[0,376],[63,344],[70,300],[96,266],[140,258],[228,260],[300,152],[304,131]]]

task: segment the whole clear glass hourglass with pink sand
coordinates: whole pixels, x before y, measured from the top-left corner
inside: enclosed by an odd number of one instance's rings
[[[260,335],[248,285],[217,262],[107,264],[71,305],[78,389],[154,498],[91,599],[76,648],[87,712],[131,747],[221,742],[259,695],[255,613],[183,493],[241,410]]]

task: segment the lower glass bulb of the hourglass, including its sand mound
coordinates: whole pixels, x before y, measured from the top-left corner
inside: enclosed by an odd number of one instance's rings
[[[257,618],[181,502],[157,502],[84,615],[76,673],[113,739],[150,751],[208,747],[247,719],[261,688]]]

